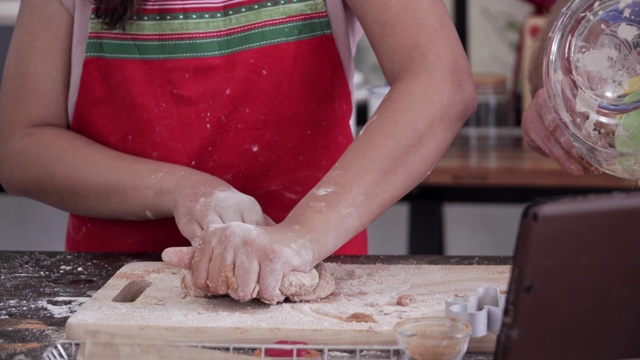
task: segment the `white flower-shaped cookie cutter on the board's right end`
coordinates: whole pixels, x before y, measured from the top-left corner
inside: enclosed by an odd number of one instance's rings
[[[476,295],[455,294],[445,300],[445,314],[466,321],[473,328],[472,337],[500,332],[506,292],[495,287],[481,287]]]

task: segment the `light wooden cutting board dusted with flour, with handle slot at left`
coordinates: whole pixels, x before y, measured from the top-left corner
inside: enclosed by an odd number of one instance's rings
[[[107,332],[153,341],[391,346],[396,344],[396,322],[443,316],[447,297],[475,294],[478,287],[506,290],[511,270],[481,265],[327,266],[336,278],[328,298],[270,306],[257,300],[185,297],[180,286],[184,270],[161,262],[131,263],[71,316],[67,337],[82,341],[88,334]],[[413,295],[415,302],[398,305],[402,295]],[[366,316],[357,321],[354,313]]]

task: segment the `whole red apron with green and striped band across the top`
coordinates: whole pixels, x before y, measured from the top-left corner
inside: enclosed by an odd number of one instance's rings
[[[92,15],[71,128],[220,177],[278,223],[353,140],[351,109],[324,1],[147,0],[126,32]],[[187,245],[173,218],[74,214],[66,242],[105,252]],[[336,253],[366,251],[363,231]]]

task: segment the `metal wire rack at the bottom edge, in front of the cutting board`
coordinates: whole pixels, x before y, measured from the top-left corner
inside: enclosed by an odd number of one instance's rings
[[[75,360],[81,343],[74,340],[60,340],[47,349],[45,360]],[[229,354],[248,355],[256,359],[287,358],[322,360],[401,360],[403,350],[398,346],[324,346],[307,344],[205,344],[177,343],[171,346],[210,349]],[[212,353],[213,355],[213,353]],[[214,358],[212,356],[212,358]],[[464,360],[491,360],[491,354],[465,354]]]

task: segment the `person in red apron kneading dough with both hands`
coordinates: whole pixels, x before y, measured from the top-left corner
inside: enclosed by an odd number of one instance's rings
[[[363,229],[428,174],[474,110],[439,1],[347,2],[392,84],[355,142],[325,1],[63,1],[73,22],[59,4],[21,2],[0,181],[71,212],[67,250],[164,250],[196,287],[238,300],[279,301],[290,271],[366,253]],[[130,16],[110,28],[102,6],[115,3]],[[77,16],[85,8],[90,19]],[[45,13],[60,24],[43,25]],[[88,36],[70,38],[72,24]]]

